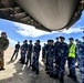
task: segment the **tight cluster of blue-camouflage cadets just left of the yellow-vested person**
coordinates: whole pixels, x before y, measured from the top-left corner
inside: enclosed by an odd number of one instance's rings
[[[64,82],[65,63],[69,56],[69,45],[64,42],[65,38],[56,38],[56,42],[48,40],[45,48],[43,46],[42,53],[45,53],[45,71],[50,77],[60,79],[60,82]]]

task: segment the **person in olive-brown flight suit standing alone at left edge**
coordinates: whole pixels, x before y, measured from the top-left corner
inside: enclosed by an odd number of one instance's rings
[[[8,49],[9,46],[9,40],[7,39],[7,33],[1,32],[0,37],[0,71],[4,70],[4,59],[3,59],[3,52]]]

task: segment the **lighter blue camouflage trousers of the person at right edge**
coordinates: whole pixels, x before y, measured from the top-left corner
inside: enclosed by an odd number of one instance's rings
[[[81,72],[82,83],[84,83],[84,56],[82,55],[78,56],[78,68]]]

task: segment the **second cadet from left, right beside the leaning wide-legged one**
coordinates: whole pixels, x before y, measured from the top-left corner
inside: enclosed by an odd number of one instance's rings
[[[21,46],[21,59],[20,59],[21,63],[23,63],[23,64],[25,63],[27,51],[28,51],[28,41],[24,40],[23,44]]]

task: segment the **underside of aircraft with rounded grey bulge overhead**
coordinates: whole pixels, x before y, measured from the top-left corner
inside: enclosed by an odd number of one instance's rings
[[[71,28],[83,9],[83,0],[0,0],[0,18],[44,31]]]

